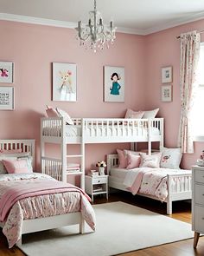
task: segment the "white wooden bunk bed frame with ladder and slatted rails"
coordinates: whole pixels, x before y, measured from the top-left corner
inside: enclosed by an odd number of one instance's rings
[[[80,187],[85,187],[85,144],[159,141],[163,148],[163,118],[41,118],[41,170],[59,181],[67,181],[67,158],[80,157]],[[61,144],[61,159],[45,156],[45,144]],[[80,154],[67,154],[67,144],[80,144]],[[133,144],[133,143],[132,143]],[[73,173],[77,174],[77,173]]]

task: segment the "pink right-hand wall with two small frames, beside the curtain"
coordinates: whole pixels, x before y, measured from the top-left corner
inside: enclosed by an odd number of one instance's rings
[[[164,145],[176,147],[180,120],[180,40],[176,36],[191,30],[204,29],[204,20],[188,23],[169,30],[145,36],[145,108],[159,107],[165,119]],[[204,34],[201,34],[204,41]],[[161,68],[173,66],[173,102],[161,102]],[[182,167],[190,168],[204,149],[204,143],[194,142],[194,154],[184,154]]]

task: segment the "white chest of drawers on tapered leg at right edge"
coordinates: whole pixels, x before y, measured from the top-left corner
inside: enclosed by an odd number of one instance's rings
[[[200,233],[204,233],[204,167],[193,166],[192,171],[192,229],[196,248]]]

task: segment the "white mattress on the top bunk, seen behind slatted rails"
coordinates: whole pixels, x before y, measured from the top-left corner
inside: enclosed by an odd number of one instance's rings
[[[158,128],[151,128],[151,135],[157,136],[160,135],[160,130]],[[43,128],[43,135],[53,135],[60,134],[60,128]],[[134,134],[132,134],[134,133]],[[123,127],[123,126],[87,126],[85,128],[85,135],[87,137],[96,137],[96,136],[128,136],[128,135],[137,135],[137,136],[147,136],[148,128],[142,127]],[[80,126],[66,126],[66,136],[67,137],[78,137],[81,136],[81,127]]]

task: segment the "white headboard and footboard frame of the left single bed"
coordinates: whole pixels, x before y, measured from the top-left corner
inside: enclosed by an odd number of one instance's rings
[[[0,140],[0,149],[18,149],[21,148],[22,152],[28,152],[33,157],[33,167],[35,163],[35,140]],[[22,221],[22,234],[33,233],[42,230],[48,230],[61,226],[80,225],[80,233],[84,233],[85,220],[82,214],[67,213],[45,218],[38,218],[34,220]],[[3,227],[3,223],[0,222]],[[16,243],[17,246],[22,245],[22,239]]]

